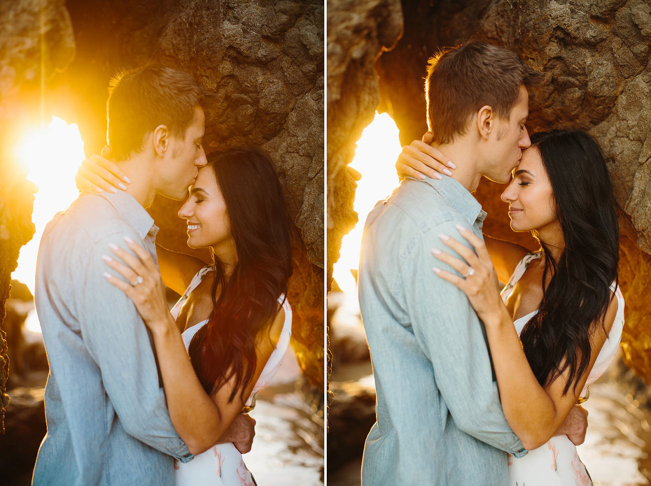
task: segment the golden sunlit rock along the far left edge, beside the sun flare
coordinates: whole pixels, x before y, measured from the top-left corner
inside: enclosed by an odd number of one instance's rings
[[[41,80],[64,68],[74,54],[70,17],[63,0],[0,1],[0,433],[8,403],[9,362],[5,302],[20,247],[31,240],[35,186],[15,162],[12,141],[25,124],[38,120]],[[42,43],[40,40],[42,39]]]

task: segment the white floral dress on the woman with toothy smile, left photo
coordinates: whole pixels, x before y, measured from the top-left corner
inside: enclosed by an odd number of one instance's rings
[[[171,310],[171,313],[176,319],[178,313],[185,304],[190,293],[201,283],[206,274],[212,270],[212,266],[206,266],[199,270],[193,277],[190,285],[188,285],[183,296],[176,302]],[[284,302],[283,302],[284,300]],[[283,362],[283,356],[289,345],[290,337],[292,334],[292,307],[289,302],[281,295],[278,302],[282,303],[285,319],[283,323],[283,330],[278,339],[275,349],[271,352],[271,356],[264,365],[260,377],[253,387],[253,392],[247,400],[247,406],[254,403],[253,397],[255,393],[259,392],[275,375]],[[208,322],[201,321],[191,328],[187,328],[183,334],[183,341],[186,349],[192,340],[192,337],[201,329],[204,324]],[[189,463],[181,463],[174,461],[174,479],[176,486],[204,486],[204,485],[223,485],[223,486],[255,486],[255,482],[251,476],[251,472],[247,469],[242,459],[242,454],[238,451],[232,443],[217,444],[212,446],[201,454],[195,455]]]

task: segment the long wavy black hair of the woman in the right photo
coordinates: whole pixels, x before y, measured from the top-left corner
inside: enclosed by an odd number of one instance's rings
[[[542,386],[567,369],[564,392],[590,364],[590,336],[603,319],[617,281],[619,230],[611,180],[598,142],[585,132],[551,130],[531,137],[549,176],[565,248],[558,261],[544,242],[542,304],[520,339]],[[534,235],[535,236],[535,235]],[[605,330],[605,327],[604,327]]]

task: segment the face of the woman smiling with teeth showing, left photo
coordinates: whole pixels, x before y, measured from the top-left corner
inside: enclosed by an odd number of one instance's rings
[[[190,248],[234,248],[229,215],[211,165],[201,167],[190,196],[178,216],[187,221],[187,245]]]

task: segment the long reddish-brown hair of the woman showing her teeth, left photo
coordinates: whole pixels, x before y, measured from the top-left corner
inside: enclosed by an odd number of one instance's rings
[[[256,338],[270,329],[277,299],[287,293],[292,238],[281,184],[260,150],[212,152],[208,165],[226,204],[238,262],[227,279],[224,264],[214,257],[214,309],[192,338],[189,355],[209,394],[234,377],[232,401],[238,390],[246,399],[257,363]]]

